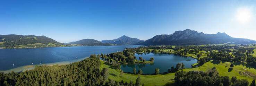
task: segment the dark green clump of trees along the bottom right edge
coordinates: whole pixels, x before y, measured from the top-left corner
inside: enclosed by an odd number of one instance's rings
[[[175,74],[175,85],[177,86],[248,86],[246,79],[237,79],[228,76],[207,74],[203,71],[178,71]],[[255,86],[255,80],[250,84]]]

